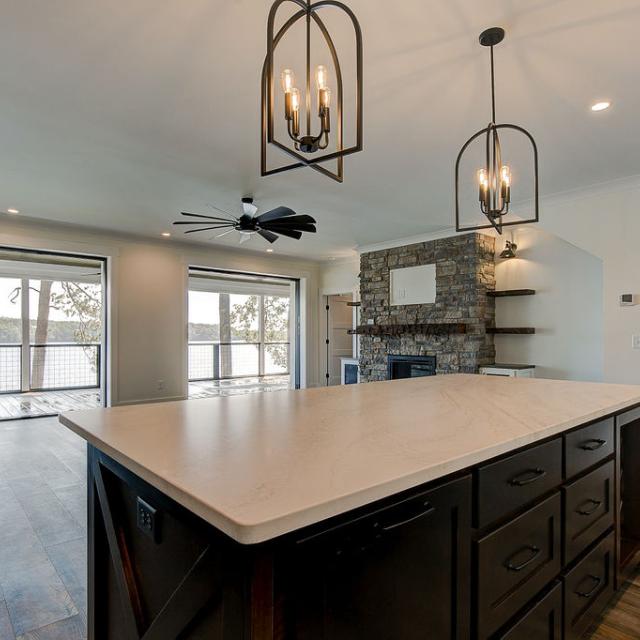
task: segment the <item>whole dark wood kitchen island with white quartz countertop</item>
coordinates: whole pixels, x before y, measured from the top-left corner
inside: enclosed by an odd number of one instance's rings
[[[640,540],[639,406],[448,375],[65,414],[89,637],[580,638]]]

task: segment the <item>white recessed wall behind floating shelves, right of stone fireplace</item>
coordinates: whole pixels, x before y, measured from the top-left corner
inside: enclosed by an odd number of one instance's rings
[[[497,335],[496,362],[534,364],[536,376],[603,379],[602,261],[534,225],[514,239],[517,258],[501,260],[496,289],[535,289],[536,295],[496,299],[496,325],[535,327],[535,335]]]

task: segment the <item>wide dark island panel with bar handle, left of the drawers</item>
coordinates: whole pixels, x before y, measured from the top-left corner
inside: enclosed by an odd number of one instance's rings
[[[470,512],[466,477],[299,541],[285,637],[469,638]]]

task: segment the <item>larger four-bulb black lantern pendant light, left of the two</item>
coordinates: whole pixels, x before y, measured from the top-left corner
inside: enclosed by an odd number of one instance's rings
[[[284,3],[295,5],[296,11],[284,19],[276,30],[278,10]],[[338,52],[319,11],[338,9],[346,13],[355,37],[355,144],[345,148],[343,120],[343,77]],[[274,55],[286,34],[304,21],[305,46],[297,60],[282,70],[275,68]],[[320,64],[312,69],[312,34],[317,31],[324,43],[330,66]],[[302,68],[296,78],[293,67]],[[277,99],[277,98],[280,99]],[[281,109],[276,109],[276,102]],[[280,106],[280,105],[278,105]],[[275,113],[278,111],[278,113]],[[275,118],[282,119],[286,134],[280,139],[276,133]],[[273,146],[293,158],[290,164],[268,167],[268,147]],[[261,174],[282,173],[299,167],[311,167],[323,175],[342,182],[343,159],[362,151],[362,32],[353,11],[337,0],[275,0],[267,23],[267,55],[262,68],[262,144]],[[323,166],[335,162],[335,170]]]

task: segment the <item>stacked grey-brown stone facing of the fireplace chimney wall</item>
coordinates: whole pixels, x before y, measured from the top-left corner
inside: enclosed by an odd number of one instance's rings
[[[360,336],[360,379],[387,379],[387,356],[435,355],[437,373],[477,373],[495,361],[493,335],[495,240],[469,234],[362,254],[360,258],[360,324],[466,323],[462,335]],[[433,304],[390,305],[390,271],[436,265]]]

